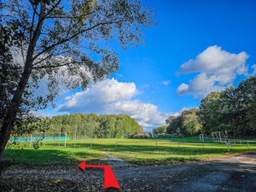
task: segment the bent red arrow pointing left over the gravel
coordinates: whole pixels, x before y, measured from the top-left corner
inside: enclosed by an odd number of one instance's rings
[[[85,160],[79,164],[79,167],[85,171],[85,167],[93,167],[93,168],[103,168],[104,169],[104,189],[113,187],[117,189],[121,189],[119,186],[116,177],[113,174],[111,166],[95,166],[95,165],[86,165]]]

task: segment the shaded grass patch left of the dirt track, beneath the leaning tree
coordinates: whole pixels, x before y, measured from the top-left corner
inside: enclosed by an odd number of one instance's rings
[[[98,164],[100,154],[87,151],[64,151],[57,149],[6,149],[3,160],[10,160],[12,168],[19,169],[74,169],[82,160]]]

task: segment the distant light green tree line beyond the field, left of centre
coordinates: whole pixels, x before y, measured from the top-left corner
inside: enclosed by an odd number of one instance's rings
[[[64,114],[24,125],[41,126],[41,129],[35,128],[34,134],[38,130],[44,131],[44,127],[47,127],[49,134],[50,132],[67,132],[68,137],[118,138],[143,133],[143,127],[135,119],[124,114],[99,116],[95,113]],[[26,128],[26,130],[32,129]]]

